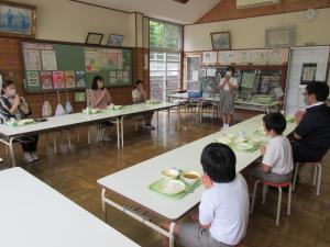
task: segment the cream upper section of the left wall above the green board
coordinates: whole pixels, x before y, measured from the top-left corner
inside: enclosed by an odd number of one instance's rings
[[[85,43],[88,32],[122,34],[123,46],[135,46],[135,15],[68,0],[21,0],[36,5],[36,38]]]

